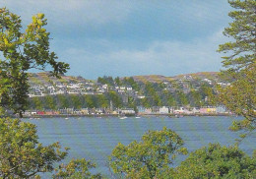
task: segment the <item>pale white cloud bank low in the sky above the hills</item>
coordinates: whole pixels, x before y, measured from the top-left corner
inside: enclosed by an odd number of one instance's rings
[[[124,48],[92,53],[83,48],[72,48],[67,50],[66,54],[73,58],[73,68],[79,69],[78,66],[84,64],[82,66],[85,71],[90,71],[90,68],[95,71],[101,69],[101,75],[173,76],[181,73],[219,71],[222,67],[222,55],[216,50],[224,41],[226,39],[220,30],[204,39],[197,38],[190,42],[154,41],[144,50]],[[113,43],[109,42],[109,45],[112,46]]]

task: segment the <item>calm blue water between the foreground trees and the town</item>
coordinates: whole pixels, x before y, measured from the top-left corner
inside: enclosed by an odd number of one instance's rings
[[[228,131],[231,117],[141,117],[141,118],[45,118],[29,121],[37,126],[39,142],[49,145],[56,141],[69,147],[71,158],[85,157],[96,162],[96,171],[108,175],[107,156],[118,144],[128,145],[140,140],[148,130],[160,130],[163,126],[180,135],[189,151],[207,146],[209,143],[231,145],[238,137]],[[237,118],[236,118],[237,119]],[[246,138],[241,149],[251,154],[256,149],[256,136]],[[184,157],[177,158],[176,164]]]

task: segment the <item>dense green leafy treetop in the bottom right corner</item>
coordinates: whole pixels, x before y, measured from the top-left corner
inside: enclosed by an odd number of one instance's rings
[[[234,147],[209,144],[197,149],[174,169],[173,178],[254,178],[256,157]]]

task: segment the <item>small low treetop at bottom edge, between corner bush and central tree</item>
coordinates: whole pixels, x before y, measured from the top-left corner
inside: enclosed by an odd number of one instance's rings
[[[102,178],[99,173],[92,174],[89,169],[95,168],[96,164],[92,163],[90,160],[87,161],[85,158],[82,159],[72,159],[68,164],[60,164],[58,168],[55,169],[55,174],[52,178],[88,178],[88,179],[100,179]]]

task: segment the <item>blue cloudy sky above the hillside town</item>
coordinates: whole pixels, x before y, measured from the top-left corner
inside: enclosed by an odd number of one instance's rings
[[[21,16],[44,13],[67,75],[128,77],[220,71],[232,20],[226,0],[0,0]]]

